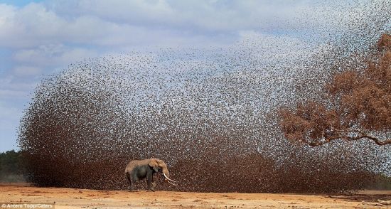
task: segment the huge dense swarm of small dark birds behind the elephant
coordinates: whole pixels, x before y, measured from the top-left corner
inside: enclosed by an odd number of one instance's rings
[[[153,157],[180,182],[160,178],[158,189],[168,191],[345,191],[367,186],[374,173],[390,175],[389,146],[313,148],[286,140],[278,125],[279,107],[321,102],[333,73],[364,68],[390,29],[391,9],[387,1],[358,8],[350,9],[348,29],[316,44],[253,35],[227,48],[70,65],[41,82],[21,120],[28,178],[38,186],[126,190],[127,163]]]

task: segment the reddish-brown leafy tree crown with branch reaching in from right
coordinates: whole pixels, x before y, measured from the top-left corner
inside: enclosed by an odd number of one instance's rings
[[[365,70],[343,70],[324,87],[323,102],[279,110],[287,139],[319,146],[336,139],[391,144],[391,36],[383,34]]]

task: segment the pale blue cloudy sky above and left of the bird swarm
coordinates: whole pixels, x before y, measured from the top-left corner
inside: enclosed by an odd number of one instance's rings
[[[332,31],[331,16],[341,13],[333,8],[347,2],[0,1],[0,151],[17,149],[35,87],[70,63],[151,48],[225,47],[254,34],[305,43],[308,34]]]

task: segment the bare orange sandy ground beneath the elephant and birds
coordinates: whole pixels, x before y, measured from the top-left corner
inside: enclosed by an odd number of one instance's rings
[[[129,192],[1,183],[0,208],[4,203],[45,203],[54,208],[391,208],[391,191],[352,195]]]

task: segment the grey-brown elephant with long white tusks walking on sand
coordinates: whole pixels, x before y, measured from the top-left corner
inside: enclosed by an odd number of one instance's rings
[[[163,173],[164,181],[177,186],[173,183],[176,181],[169,178],[170,173],[164,161],[160,159],[133,160],[125,168],[125,175],[130,183],[130,191],[134,190],[134,183],[143,178],[146,178],[148,189],[155,191],[156,183],[154,181],[154,173]]]

